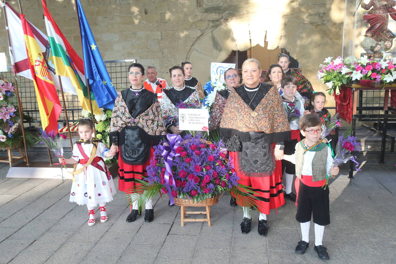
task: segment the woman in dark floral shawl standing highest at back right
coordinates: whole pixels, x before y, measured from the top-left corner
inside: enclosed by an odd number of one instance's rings
[[[282,70],[285,75],[293,75],[295,78],[297,78],[299,82],[299,86],[297,87],[297,92],[299,92],[301,96],[307,98],[305,99],[304,106],[305,107],[309,106],[309,100],[311,98],[312,92],[314,91],[314,88],[312,88],[312,84],[298,70],[289,69],[289,64],[290,64],[289,55],[281,54],[278,59],[278,64],[282,66]]]

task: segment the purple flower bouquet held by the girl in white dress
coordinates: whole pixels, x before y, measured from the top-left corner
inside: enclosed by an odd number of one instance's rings
[[[62,139],[66,139],[66,135],[55,133],[55,131],[49,131],[47,133],[45,130],[40,129],[41,135],[37,138],[38,144],[44,144],[46,147],[55,154],[57,158],[64,158],[63,156],[63,146]],[[59,163],[54,163],[59,164]],[[66,162],[61,164],[61,172],[62,172],[62,183],[64,182],[63,178],[63,168],[67,169]]]

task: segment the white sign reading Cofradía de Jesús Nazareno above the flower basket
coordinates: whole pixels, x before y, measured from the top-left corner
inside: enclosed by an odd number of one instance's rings
[[[179,108],[179,129],[193,131],[208,131],[209,110]]]

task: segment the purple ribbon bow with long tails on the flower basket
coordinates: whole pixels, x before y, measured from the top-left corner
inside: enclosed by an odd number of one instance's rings
[[[169,185],[169,175],[172,175],[173,177],[173,172],[172,172],[173,158],[180,156],[180,154],[176,153],[176,148],[180,146],[181,137],[180,135],[176,135],[176,134],[167,134],[166,138],[168,139],[169,146],[163,146],[162,143],[166,142],[163,141],[160,143],[160,149],[162,150],[161,155],[162,157],[164,157],[164,163],[165,163],[165,175],[164,175],[165,188],[166,188],[166,192],[168,192],[170,204],[173,205],[175,203],[175,200],[173,199],[171,186]],[[176,188],[175,177],[173,177],[172,186],[173,188]]]

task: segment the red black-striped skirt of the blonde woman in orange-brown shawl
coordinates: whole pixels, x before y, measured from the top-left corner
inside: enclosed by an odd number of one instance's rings
[[[238,153],[230,152],[233,162],[238,161]],[[240,184],[251,187],[258,196],[255,195],[258,209],[261,213],[269,215],[270,209],[276,209],[285,203],[282,191],[282,162],[276,161],[274,173],[268,177],[248,177],[243,171],[238,170],[240,166],[235,166],[236,174],[240,178]],[[237,199],[238,203],[238,199]]]

